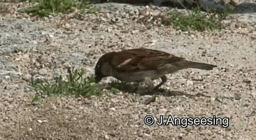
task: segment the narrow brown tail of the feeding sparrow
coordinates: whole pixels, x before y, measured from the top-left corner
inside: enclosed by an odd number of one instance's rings
[[[182,65],[186,68],[197,68],[202,70],[212,70],[213,68],[217,67],[216,65],[206,64],[206,63],[199,63],[199,62],[192,62],[192,61],[182,61]]]

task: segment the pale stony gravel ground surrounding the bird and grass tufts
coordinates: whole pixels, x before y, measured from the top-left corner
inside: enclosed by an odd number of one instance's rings
[[[255,13],[223,21],[220,32],[180,32],[152,20],[136,22],[139,9],[127,4],[97,4],[98,14],[62,15],[39,20],[15,10],[0,16],[0,139],[59,140],[253,140],[256,137]],[[152,10],[159,13],[167,8]],[[249,19],[249,20],[246,20]],[[253,18],[252,18],[253,19]],[[188,69],[168,75],[150,96],[121,91],[84,98],[48,98],[33,105],[30,73],[36,78],[67,74],[76,67],[92,74],[105,52],[153,48],[198,62],[218,65],[212,71]],[[103,82],[110,82],[107,78]],[[159,82],[159,81],[155,81]],[[133,88],[132,86],[130,88]],[[146,126],[150,114],[173,117],[228,117],[222,126]]]

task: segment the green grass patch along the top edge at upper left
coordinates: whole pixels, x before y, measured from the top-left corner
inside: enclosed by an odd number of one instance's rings
[[[68,13],[72,8],[77,8],[82,14],[93,13],[99,9],[92,6],[91,0],[30,0],[37,2],[36,6],[23,9],[20,12],[37,14],[39,16],[57,15]]]

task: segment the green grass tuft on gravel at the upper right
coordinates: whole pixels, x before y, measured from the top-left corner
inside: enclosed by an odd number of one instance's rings
[[[228,14],[235,13],[232,6],[227,5],[222,11],[208,10],[202,12],[200,8],[193,8],[191,11],[187,10],[188,15],[181,14],[177,11],[168,13],[168,25],[172,25],[177,30],[220,30],[221,21],[228,16]]]

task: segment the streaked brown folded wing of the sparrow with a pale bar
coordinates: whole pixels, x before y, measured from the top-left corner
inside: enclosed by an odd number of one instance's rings
[[[164,64],[184,59],[158,50],[138,48],[117,52],[111,64],[118,71],[156,70]]]

